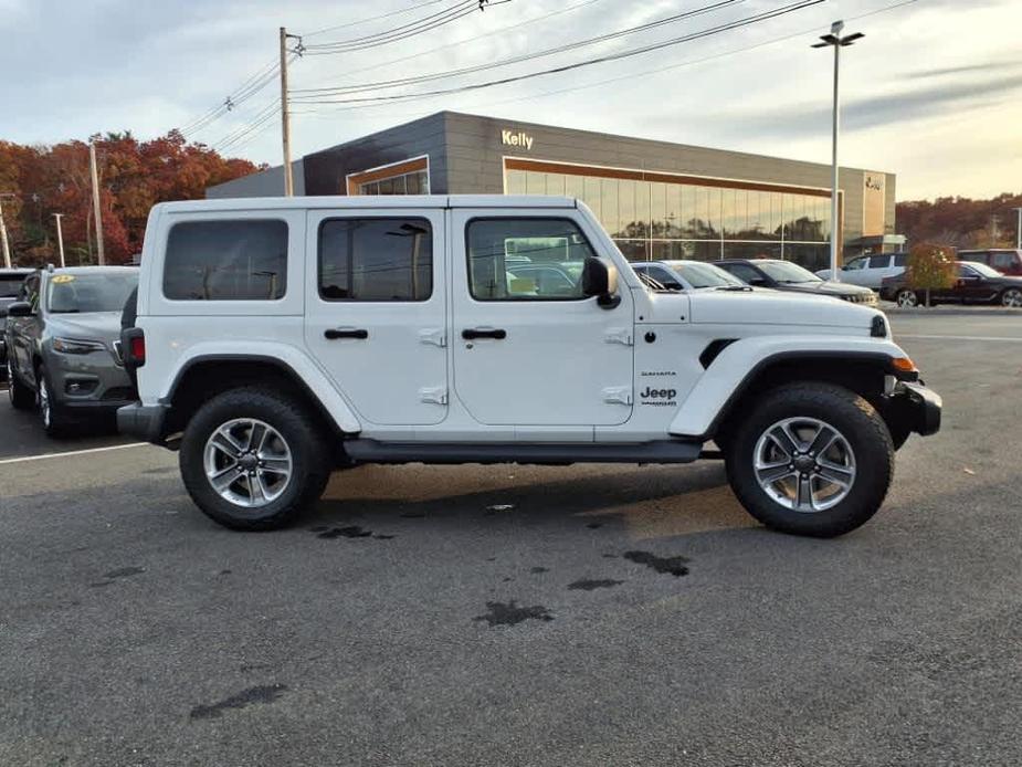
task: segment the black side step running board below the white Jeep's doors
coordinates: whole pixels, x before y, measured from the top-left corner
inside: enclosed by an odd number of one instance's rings
[[[689,463],[702,443],[657,440],[638,444],[550,444],[465,442],[380,442],[357,439],[344,443],[354,461],[366,463]]]

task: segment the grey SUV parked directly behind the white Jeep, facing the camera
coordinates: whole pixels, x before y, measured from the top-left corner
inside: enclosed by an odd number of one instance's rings
[[[8,308],[8,393],[15,408],[38,408],[48,433],[134,400],[120,314],[137,284],[131,266],[42,270]]]

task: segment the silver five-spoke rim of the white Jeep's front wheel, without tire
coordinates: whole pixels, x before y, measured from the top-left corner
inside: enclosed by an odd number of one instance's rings
[[[855,483],[852,445],[834,427],[815,418],[778,421],[757,440],[752,460],[762,491],[794,512],[836,506]]]

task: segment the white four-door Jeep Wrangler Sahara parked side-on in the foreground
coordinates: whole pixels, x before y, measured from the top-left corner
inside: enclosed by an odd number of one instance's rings
[[[656,291],[572,199],[164,203],[141,264],[118,423],[180,450],[229,527],[280,526],[361,463],[702,456],[763,524],[833,536],[940,424],[879,312]]]

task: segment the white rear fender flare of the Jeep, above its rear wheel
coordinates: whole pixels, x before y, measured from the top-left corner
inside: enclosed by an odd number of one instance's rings
[[[234,344],[231,351],[202,349],[200,347],[190,349],[190,353],[179,361],[173,376],[170,378],[170,384],[160,392],[159,402],[170,404],[178,385],[186,374],[197,365],[232,361],[260,363],[272,365],[293,380],[313,402],[322,408],[323,412],[333,420],[339,431],[348,434],[361,431],[361,423],[354,409],[340,396],[333,381],[304,354],[283,344],[267,344],[265,342],[252,345],[257,346],[257,349],[239,350],[239,346],[247,345]],[[267,351],[271,351],[271,354],[267,354]]]

